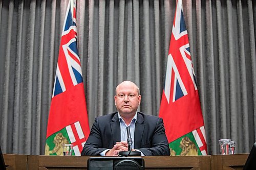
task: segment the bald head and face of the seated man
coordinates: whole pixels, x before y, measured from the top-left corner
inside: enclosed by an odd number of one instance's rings
[[[118,85],[115,105],[120,114],[135,114],[140,105],[140,99],[141,95],[138,95],[138,88],[132,82],[124,82]]]

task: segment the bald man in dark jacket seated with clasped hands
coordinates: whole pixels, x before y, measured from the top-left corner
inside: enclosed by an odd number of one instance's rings
[[[137,112],[139,87],[123,81],[116,87],[114,99],[118,112],[95,118],[81,155],[118,156],[118,152],[127,151],[128,126],[134,141],[132,151],[139,151],[142,156],[170,155],[162,118]]]

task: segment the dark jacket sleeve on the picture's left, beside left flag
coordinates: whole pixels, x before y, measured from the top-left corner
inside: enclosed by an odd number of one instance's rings
[[[81,155],[99,156],[104,150],[106,150],[106,148],[102,148],[102,137],[99,129],[98,118],[95,118],[91,133],[86,144],[84,144]]]

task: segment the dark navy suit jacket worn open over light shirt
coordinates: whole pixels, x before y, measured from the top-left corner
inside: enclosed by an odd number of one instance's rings
[[[134,148],[140,150],[145,156],[170,155],[163,119],[141,112],[137,113],[133,139]],[[97,117],[81,155],[99,155],[106,149],[112,149],[114,144],[119,141],[118,113]]]

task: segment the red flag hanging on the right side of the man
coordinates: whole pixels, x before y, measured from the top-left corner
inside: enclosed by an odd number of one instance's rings
[[[177,1],[159,116],[164,120],[173,155],[207,154],[204,121],[181,0]],[[184,142],[190,143],[195,150],[186,154]]]

